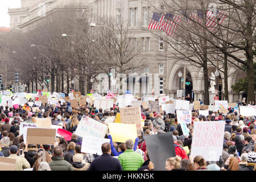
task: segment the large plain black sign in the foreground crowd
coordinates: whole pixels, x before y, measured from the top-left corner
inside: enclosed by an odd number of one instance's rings
[[[174,140],[172,133],[160,133],[144,136],[150,161],[154,164],[155,171],[166,171],[166,160],[175,157]]]

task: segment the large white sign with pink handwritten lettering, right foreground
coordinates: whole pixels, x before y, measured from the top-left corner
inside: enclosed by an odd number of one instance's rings
[[[193,126],[192,156],[205,161],[218,161],[222,156],[225,121],[195,122]]]

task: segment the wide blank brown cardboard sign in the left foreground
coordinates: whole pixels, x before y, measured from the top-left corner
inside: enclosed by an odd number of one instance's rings
[[[56,138],[56,129],[43,129],[27,127],[26,140],[28,144],[54,144]],[[25,134],[25,133],[24,133]],[[24,136],[25,137],[25,136]]]

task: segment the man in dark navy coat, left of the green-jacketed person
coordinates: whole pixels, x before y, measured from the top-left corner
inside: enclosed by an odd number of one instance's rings
[[[113,158],[111,154],[111,145],[106,142],[101,146],[102,155],[93,160],[89,171],[123,171],[118,159]]]

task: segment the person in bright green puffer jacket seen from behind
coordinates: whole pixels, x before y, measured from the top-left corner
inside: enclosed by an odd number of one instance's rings
[[[125,142],[126,151],[118,156],[123,171],[137,171],[139,167],[142,167],[144,163],[143,156],[134,152],[133,140],[129,139]]]

